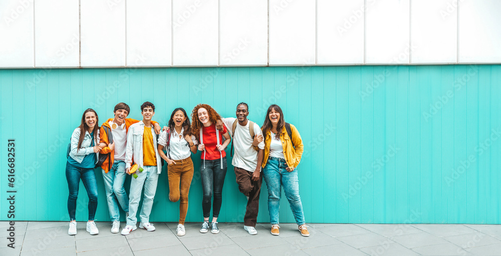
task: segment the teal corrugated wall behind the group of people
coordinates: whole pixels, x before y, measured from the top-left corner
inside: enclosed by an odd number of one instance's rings
[[[171,111],[197,103],[234,116],[249,105],[262,124],[279,104],[305,144],[299,165],[307,222],[501,223],[501,66],[353,66],[170,69],[0,70],[0,195],[7,198],[7,140],[16,139],[16,220],[68,220],[65,154],[86,108],[102,123],[118,102],[140,119],[142,102],[165,124]],[[198,170],[199,154],[192,157]],[[219,221],[241,222],[228,157]],[[109,221],[101,170],[98,221]],[[126,187],[130,178],[126,181]],[[87,218],[81,184],[77,219]],[[7,220],[0,200],[0,220]],[[294,222],[281,201],[281,222]],[[160,176],[152,221],[177,221]],[[122,221],[124,220],[122,216]],[[195,171],[187,221],[201,220]],[[263,186],[258,220],[268,222]]]

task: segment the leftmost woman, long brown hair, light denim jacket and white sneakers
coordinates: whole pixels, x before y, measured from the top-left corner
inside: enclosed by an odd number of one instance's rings
[[[68,181],[68,214],[70,228],[68,234],[77,234],[75,212],[77,208],[78,186],[80,179],[84,183],[89,196],[89,221],[86,230],[90,234],[98,234],[94,216],[97,209],[97,183],[94,168],[99,159],[99,151],[105,146],[99,144],[99,122],[96,111],[89,108],[84,111],[80,126],[71,135],[71,150],[66,163],[66,180]]]

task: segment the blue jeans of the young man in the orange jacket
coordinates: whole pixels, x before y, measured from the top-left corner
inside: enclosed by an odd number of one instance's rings
[[[111,221],[120,220],[120,206],[127,212],[129,211],[129,198],[125,193],[124,183],[127,174],[125,173],[125,162],[115,160],[108,173],[103,169],[104,189],[106,191],[106,200],[108,201],[108,210],[110,211]],[[118,200],[118,202],[117,202]]]

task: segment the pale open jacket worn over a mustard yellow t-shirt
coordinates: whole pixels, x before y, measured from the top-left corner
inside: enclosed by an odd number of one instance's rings
[[[131,166],[132,156],[134,156],[134,162],[137,163],[139,167],[143,167],[143,132],[143,121],[139,121],[139,123],[135,123],[129,127],[129,131],[127,132],[127,147],[125,148],[125,168]],[[160,174],[162,172],[162,163],[160,162],[161,158],[158,154],[158,144],[153,126],[151,127],[151,136],[153,137],[153,147],[157,159],[157,173]]]

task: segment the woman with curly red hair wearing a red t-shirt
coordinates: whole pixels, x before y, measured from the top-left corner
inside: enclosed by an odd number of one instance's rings
[[[206,233],[209,229],[210,199],[214,194],[212,204],[211,232],[219,233],[217,228],[217,217],[222,203],[222,186],[224,176],[226,176],[226,152],[224,149],[231,141],[231,137],[226,129],[216,130],[215,123],[221,120],[221,116],[207,104],[198,104],[191,114],[191,134],[200,142],[198,150],[203,151],[200,164],[200,175],[202,178],[202,211],[203,223],[200,228],[201,233]],[[222,137],[226,139],[222,142]]]

